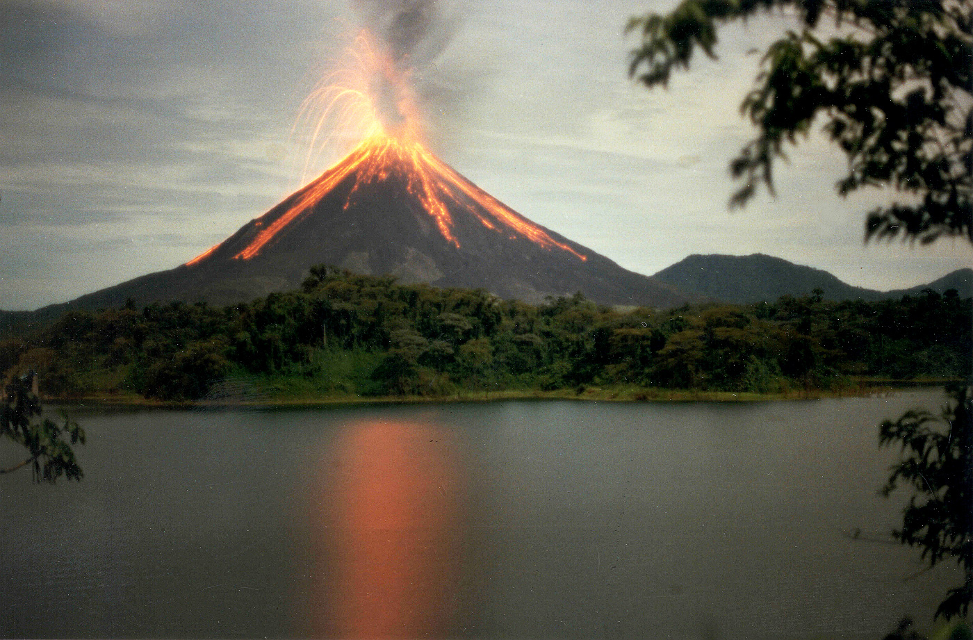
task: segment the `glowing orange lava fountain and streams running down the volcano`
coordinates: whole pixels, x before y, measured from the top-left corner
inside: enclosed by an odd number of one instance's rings
[[[343,205],[347,211],[362,187],[395,176],[406,185],[417,208],[433,219],[436,229],[456,249],[461,243],[453,216],[463,211],[490,231],[523,237],[544,249],[559,249],[587,260],[463,178],[422,145],[421,119],[410,85],[413,71],[401,66],[402,61],[382,53],[367,32],[359,35],[346,52],[344,63],[308,96],[302,108],[304,120],[311,124],[306,169],[315,153],[339,133],[353,132],[361,142],[298,192],[282,214],[276,212],[272,220],[268,214],[255,221],[260,231],[234,254],[234,259],[250,260],[260,255],[281,231],[310,213],[315,203],[345,180],[353,181]],[[201,262],[220,246],[200,254],[187,266]]]

